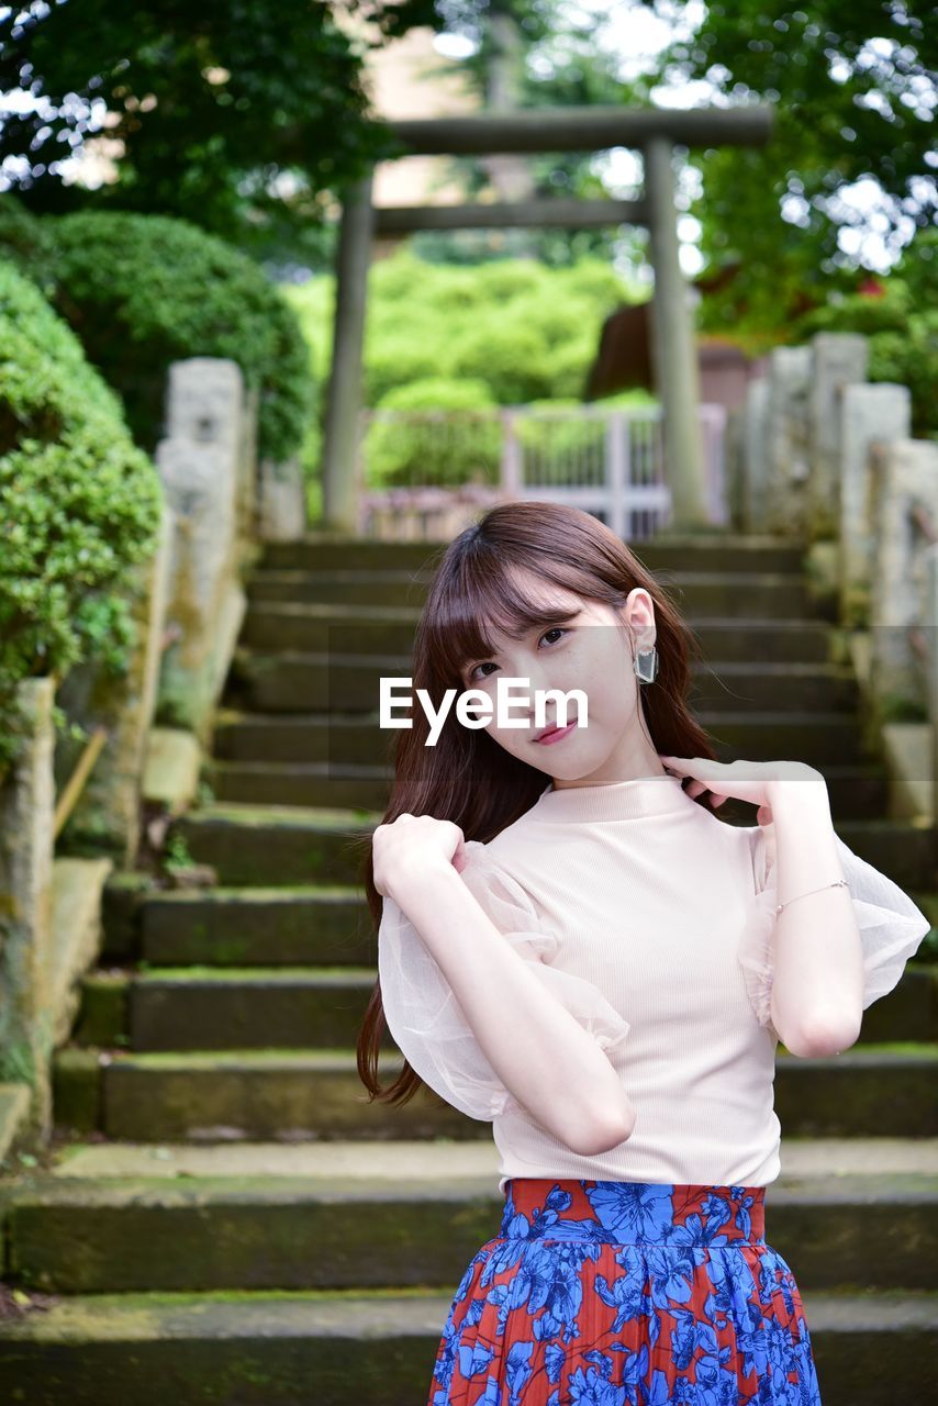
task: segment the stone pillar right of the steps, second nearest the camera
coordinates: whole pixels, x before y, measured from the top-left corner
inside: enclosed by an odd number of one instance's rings
[[[847,385],[841,418],[840,619],[862,626],[869,612],[875,538],[869,453],[873,444],[910,437],[908,387],[882,381]]]

